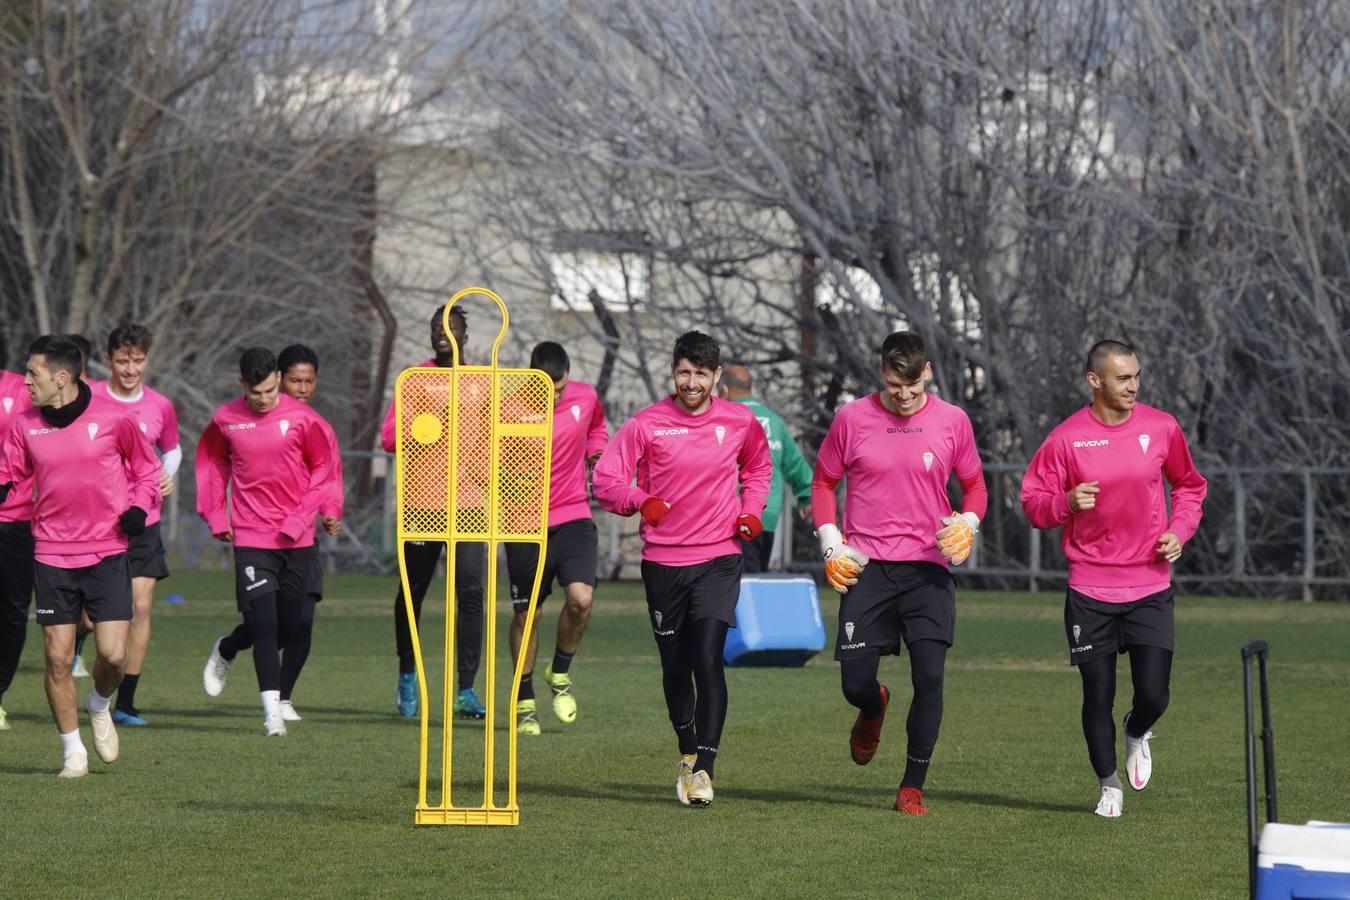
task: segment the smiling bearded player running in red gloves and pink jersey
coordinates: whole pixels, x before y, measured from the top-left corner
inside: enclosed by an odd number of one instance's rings
[[[680,335],[671,363],[674,393],[628,420],[593,472],[601,506],[643,517],[643,586],[679,741],[675,796],[695,807],[713,801],[728,706],[722,653],[726,629],[736,625],[740,542],[764,530],[760,515],[772,478],[755,414],[713,395],[720,358],[707,335]]]

